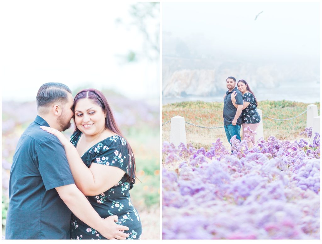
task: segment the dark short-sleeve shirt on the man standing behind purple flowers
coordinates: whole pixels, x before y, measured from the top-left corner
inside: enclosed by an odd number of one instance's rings
[[[227,91],[226,96],[223,99],[223,124],[224,125],[229,125],[236,114],[237,109],[235,106],[232,104],[232,93],[236,92],[237,95],[235,97],[236,99],[236,104],[237,105],[243,105],[243,99],[242,99],[242,93],[235,87],[231,92]],[[242,125],[242,114],[239,116],[237,119],[237,124]]]

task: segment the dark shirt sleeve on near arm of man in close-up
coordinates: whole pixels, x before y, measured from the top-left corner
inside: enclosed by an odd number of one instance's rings
[[[56,137],[40,144],[36,155],[46,190],[75,183],[64,147]]]

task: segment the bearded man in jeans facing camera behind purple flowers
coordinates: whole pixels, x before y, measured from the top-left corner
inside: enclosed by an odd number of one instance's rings
[[[243,107],[243,99],[242,93],[236,87],[236,79],[232,76],[229,76],[226,79],[226,86],[228,91],[223,99],[223,123],[225,127],[226,136],[228,142],[230,139],[236,135],[236,138],[241,141],[240,131],[242,126],[242,107]],[[236,109],[232,104],[232,93],[236,92],[237,95],[235,97],[236,104],[238,108]]]

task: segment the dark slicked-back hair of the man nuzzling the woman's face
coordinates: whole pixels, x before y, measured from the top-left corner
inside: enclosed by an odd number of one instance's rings
[[[68,101],[67,92],[71,93],[71,89],[62,83],[50,82],[43,84],[36,96],[37,109],[50,105],[53,102],[66,103]]]

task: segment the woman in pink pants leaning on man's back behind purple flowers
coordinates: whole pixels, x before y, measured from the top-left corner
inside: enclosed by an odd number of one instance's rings
[[[252,145],[255,144],[255,132],[259,123],[260,123],[260,115],[257,112],[257,99],[254,93],[251,91],[248,83],[245,80],[239,80],[237,83],[238,90],[242,93],[242,98],[244,101],[243,110],[242,110],[242,139],[245,138],[245,133],[251,136]],[[232,93],[232,104],[237,108],[237,104],[235,104],[236,92]],[[253,132],[245,132],[247,127],[250,127]],[[251,145],[251,146],[252,146]]]

